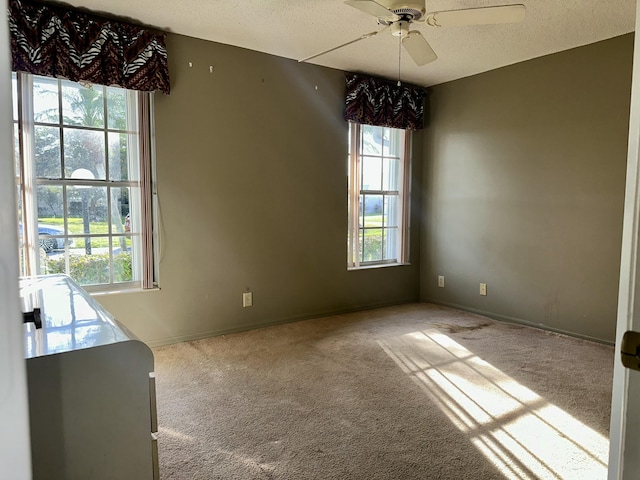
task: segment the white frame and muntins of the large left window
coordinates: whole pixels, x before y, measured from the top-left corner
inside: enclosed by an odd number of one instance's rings
[[[16,212],[17,220],[23,226],[21,235],[21,275],[33,276],[42,273],[40,240],[38,235],[38,213],[37,213],[37,190],[40,185],[54,185],[63,188],[63,204],[65,205],[64,213],[64,235],[58,235],[56,238],[64,238],[65,249],[65,271],[69,273],[69,248],[67,240],[74,238],[86,238],[84,233],[71,234],[67,227],[66,212],[66,188],[68,187],[107,187],[107,191],[113,188],[130,187],[130,218],[134,225],[132,233],[127,234],[131,238],[131,262],[132,262],[132,280],[131,281],[115,281],[114,279],[114,257],[113,253],[109,255],[110,278],[108,283],[99,283],[92,285],[83,285],[83,288],[91,293],[113,292],[131,289],[151,289],[158,286],[157,283],[157,255],[154,255],[157,249],[156,235],[154,230],[154,219],[156,218],[156,192],[155,192],[155,164],[153,162],[154,136],[153,136],[153,93],[136,92],[126,90],[128,98],[128,113],[130,118],[137,118],[136,131],[117,130],[107,125],[105,118],[104,128],[94,127],[77,127],[79,130],[98,131],[106,135],[108,133],[124,133],[131,135],[137,139],[137,145],[132,146],[133,155],[137,155],[137,164],[139,171],[127,180],[113,179],[82,179],[82,178],[36,178],[35,173],[35,148],[34,148],[34,118],[33,118],[33,79],[36,76],[26,73],[17,73],[17,104],[18,118],[14,118],[14,126],[17,124],[19,132],[16,168],[16,192],[20,195],[22,204],[22,214]],[[54,80],[55,81],[55,80]],[[61,88],[61,80],[58,80],[58,89]],[[102,86],[96,86],[103,88]],[[61,100],[59,100],[61,102]],[[104,96],[105,109],[107,108],[106,95]],[[61,104],[59,104],[61,107]],[[108,114],[108,113],[107,113]],[[76,128],[59,123],[44,123],[46,126],[60,128]],[[15,128],[15,127],[14,127]],[[60,137],[62,144],[62,135]],[[106,144],[105,144],[106,146]],[[61,155],[63,153],[61,152]],[[61,159],[64,162],[64,158]],[[105,166],[108,166],[109,153],[105,151]],[[62,163],[64,166],[64,163]],[[107,168],[107,167],[105,167]],[[108,168],[107,168],[108,170]],[[139,195],[133,195],[134,192]],[[107,195],[107,209],[111,212],[111,195]],[[110,222],[113,225],[113,220]],[[108,238],[109,252],[113,252],[113,247],[122,232],[114,232],[112,228],[106,233],[90,234],[89,236],[99,236]]]

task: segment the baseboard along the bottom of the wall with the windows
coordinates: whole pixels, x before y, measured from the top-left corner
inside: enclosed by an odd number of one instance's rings
[[[284,318],[280,318],[280,319],[276,319],[276,320],[269,320],[269,321],[266,321],[266,322],[259,322],[259,323],[249,324],[249,325],[242,325],[242,326],[239,326],[239,327],[220,328],[220,329],[207,330],[207,331],[204,331],[204,332],[199,332],[199,333],[194,333],[194,334],[189,334],[189,335],[179,335],[179,336],[175,336],[175,337],[165,337],[165,338],[161,338],[161,339],[157,339],[157,340],[145,341],[145,343],[151,348],[161,347],[161,346],[164,346],[164,345],[171,345],[173,343],[192,342],[192,341],[195,341],[195,340],[202,340],[204,338],[209,338],[209,337],[217,337],[217,336],[220,336],[220,335],[229,335],[231,333],[246,332],[248,330],[256,330],[258,328],[274,327],[276,325],[284,325],[284,324],[287,324],[287,323],[302,322],[304,320],[313,320],[315,318],[330,317],[332,315],[344,315],[344,314],[347,314],[347,313],[362,312],[362,311],[365,311],[365,310],[373,310],[373,309],[376,309],[376,308],[393,307],[395,305],[404,305],[404,304],[407,304],[407,303],[416,303],[416,302],[419,302],[419,301],[420,300],[416,297],[416,298],[410,298],[410,299],[406,299],[406,300],[398,300],[398,301],[394,301],[394,302],[382,302],[382,303],[361,305],[361,306],[351,307],[351,308],[341,308],[341,309],[335,309],[335,310],[323,310],[323,311],[319,311],[319,312],[315,312],[315,313],[310,313],[310,314],[307,314],[307,315],[296,315],[296,316],[291,316],[291,317],[284,317]]]

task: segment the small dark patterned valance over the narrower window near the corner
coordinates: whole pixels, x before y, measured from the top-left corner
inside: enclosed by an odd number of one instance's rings
[[[424,128],[423,88],[347,74],[347,97],[344,118],[379,127],[420,130]]]

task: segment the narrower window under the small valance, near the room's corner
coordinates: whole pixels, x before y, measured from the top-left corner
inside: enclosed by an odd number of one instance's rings
[[[408,261],[409,133],[349,123],[348,267]]]

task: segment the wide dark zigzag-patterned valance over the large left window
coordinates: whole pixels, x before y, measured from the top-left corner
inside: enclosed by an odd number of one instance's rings
[[[12,70],[169,93],[164,35],[29,0],[10,0]]]

